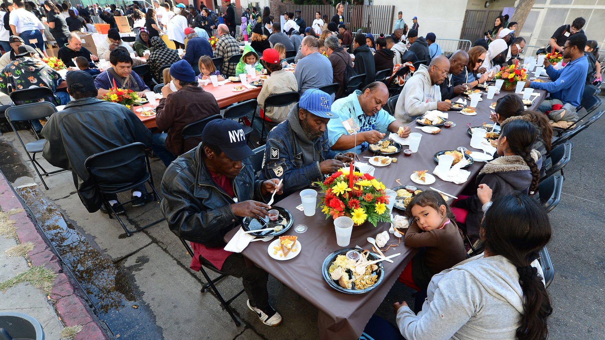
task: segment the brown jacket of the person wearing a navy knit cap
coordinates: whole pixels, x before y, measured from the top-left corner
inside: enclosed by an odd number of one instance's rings
[[[175,156],[195,148],[201,142],[195,138],[183,140],[181,132],[186,125],[220,113],[217,100],[212,93],[193,86],[181,87],[177,92],[160,99],[160,104],[155,111],[157,128],[160,131],[168,130],[166,149]]]

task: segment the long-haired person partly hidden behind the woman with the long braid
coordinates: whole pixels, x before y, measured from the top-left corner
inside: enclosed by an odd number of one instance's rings
[[[538,130],[538,137],[535,139],[534,149],[540,152],[544,157],[551,152],[552,125],[548,117],[540,112],[527,111],[523,102],[517,94],[507,94],[497,100],[495,113],[491,114],[492,122],[498,122],[504,126],[511,120],[522,119],[534,124]]]

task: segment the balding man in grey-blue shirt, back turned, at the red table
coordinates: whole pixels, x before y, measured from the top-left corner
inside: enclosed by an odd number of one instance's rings
[[[294,71],[300,94],[309,88],[332,84],[332,64],[328,58],[318,52],[318,49],[317,39],[312,36],[302,39],[301,53],[304,57],[296,64],[296,71]]]

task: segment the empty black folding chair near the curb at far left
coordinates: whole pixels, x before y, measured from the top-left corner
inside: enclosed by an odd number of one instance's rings
[[[23,146],[23,148],[25,149],[25,153],[27,154],[27,157],[30,159],[31,165],[34,166],[34,170],[36,170],[36,174],[38,174],[38,177],[40,177],[40,180],[42,181],[42,185],[44,185],[44,188],[47,190],[48,190],[48,186],[46,185],[44,178],[42,178],[42,175],[45,175],[48,177],[48,175],[56,174],[57,172],[65,171],[66,169],[59,169],[59,170],[50,171],[50,172],[46,171],[44,169],[44,167],[42,165],[40,165],[40,163],[38,163],[38,161],[36,160],[36,154],[38,152],[42,152],[42,149],[44,149],[44,142],[46,142],[46,140],[38,139],[38,140],[35,140],[34,142],[30,142],[27,144],[23,143],[23,140],[21,139],[21,136],[19,136],[19,132],[15,126],[15,123],[16,122],[29,122],[30,120],[34,120],[34,119],[41,119],[44,117],[51,116],[52,114],[54,114],[56,112],[57,112],[57,110],[54,108],[53,104],[51,104],[49,102],[36,102],[36,103],[23,104],[23,105],[18,105],[18,106],[10,106],[10,108],[7,108],[4,113],[6,116],[6,119],[8,120],[8,123],[10,124],[10,127],[13,128],[13,131],[15,131],[15,134],[17,135],[17,139],[19,139],[21,146]],[[40,168],[40,170],[42,170],[42,174],[40,173],[38,168]]]

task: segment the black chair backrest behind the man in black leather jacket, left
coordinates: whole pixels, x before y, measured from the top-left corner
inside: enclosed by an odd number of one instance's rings
[[[91,155],[84,166],[103,189],[119,189],[137,183],[146,174],[147,146],[137,142]]]

